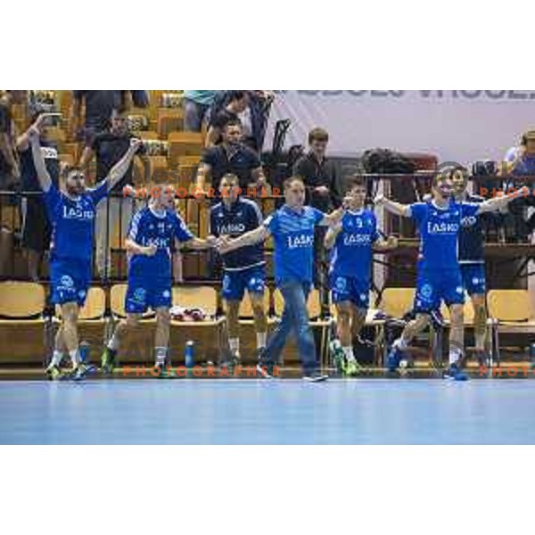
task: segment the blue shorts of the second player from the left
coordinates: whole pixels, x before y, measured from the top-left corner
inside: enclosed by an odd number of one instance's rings
[[[149,307],[152,310],[172,305],[172,288],[170,279],[129,278],[125,298],[125,310],[128,314],[144,314]]]

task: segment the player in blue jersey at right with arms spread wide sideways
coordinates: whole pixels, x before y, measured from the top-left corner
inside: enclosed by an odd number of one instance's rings
[[[413,218],[420,234],[420,254],[414,312],[416,318],[409,322],[401,337],[394,342],[387,366],[395,371],[403,351],[416,334],[424,330],[432,312],[440,309],[444,301],[449,307],[451,327],[449,332],[449,369],[445,377],[464,381],[462,371],[465,362],[465,325],[463,306],[465,287],[458,259],[458,236],[465,218],[476,218],[483,213],[504,208],[515,198],[529,193],[523,188],[515,193],[481,203],[456,202],[453,197],[452,168],[441,170],[432,180],[432,200],[415,204],[400,204],[382,195],[375,199],[392,214]]]

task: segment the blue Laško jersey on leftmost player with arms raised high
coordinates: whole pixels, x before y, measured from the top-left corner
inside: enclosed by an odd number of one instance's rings
[[[95,237],[96,205],[108,194],[101,182],[77,198],[70,198],[51,185],[44,193],[46,211],[52,225],[51,259],[78,259],[91,262]]]

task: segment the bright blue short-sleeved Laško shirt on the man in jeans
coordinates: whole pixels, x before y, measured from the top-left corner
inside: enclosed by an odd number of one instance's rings
[[[314,229],[325,214],[305,206],[292,210],[284,205],[265,221],[275,243],[276,283],[295,280],[312,283],[314,261]]]

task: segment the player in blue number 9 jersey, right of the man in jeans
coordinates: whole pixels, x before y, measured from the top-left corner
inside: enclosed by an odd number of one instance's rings
[[[358,373],[353,338],[362,330],[369,308],[373,251],[391,251],[398,246],[394,236],[383,240],[377,230],[375,214],[366,210],[365,202],[366,185],[356,178],[344,199],[346,211],[342,221],[329,228],[325,235],[325,248],[332,250],[329,284],[346,375]]]

